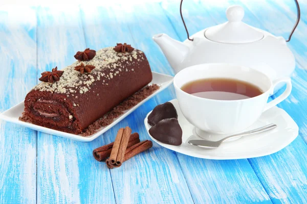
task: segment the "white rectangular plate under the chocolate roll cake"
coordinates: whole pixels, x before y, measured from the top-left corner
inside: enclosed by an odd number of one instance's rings
[[[39,126],[39,125],[36,125],[36,124],[32,124],[32,123],[28,123],[28,122],[18,120],[18,118],[24,112],[24,108],[25,108],[24,101],[17,104],[16,106],[8,109],[7,111],[3,112],[2,114],[0,114],[0,119],[6,120],[6,121],[9,121],[9,122],[13,122],[13,123],[16,123],[16,124],[20,124],[20,125],[29,127],[33,130],[48,133],[48,134],[51,134],[51,135],[56,135],[56,136],[60,136],[60,137],[64,137],[64,138],[82,141],[82,142],[90,142],[90,141],[96,139],[97,137],[99,137],[100,135],[102,135],[103,133],[105,133],[107,130],[111,129],[111,127],[113,127],[119,121],[124,119],[126,116],[128,116],[130,113],[132,113],[134,110],[136,110],[138,107],[140,107],[142,104],[144,104],[147,100],[149,100],[150,98],[152,98],[153,96],[155,96],[156,94],[158,94],[159,92],[161,92],[162,90],[167,88],[172,83],[172,81],[173,81],[173,77],[171,77],[170,75],[152,72],[152,81],[151,81],[150,84],[157,84],[157,85],[160,86],[160,89],[157,90],[152,95],[148,96],[146,99],[142,100],[141,103],[139,103],[135,107],[125,111],[124,114],[121,115],[120,117],[118,117],[117,119],[115,119],[112,124],[109,124],[108,126],[103,127],[97,133],[95,133],[91,136],[88,136],[88,137],[82,137],[80,135],[75,135],[75,134],[71,134],[71,133],[64,133],[64,132],[61,132],[61,131],[49,129],[47,127],[42,127],[42,126]]]

